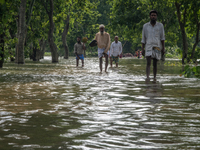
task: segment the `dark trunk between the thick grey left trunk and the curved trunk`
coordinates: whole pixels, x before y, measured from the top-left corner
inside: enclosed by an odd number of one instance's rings
[[[53,0],[49,0],[50,2],[50,11],[48,11],[48,8],[46,8],[47,14],[49,15],[49,34],[48,34],[48,42],[51,50],[51,56],[52,56],[52,63],[58,62],[58,52],[57,52],[57,46],[54,43],[53,39],[53,31],[54,31],[54,22],[53,22]]]

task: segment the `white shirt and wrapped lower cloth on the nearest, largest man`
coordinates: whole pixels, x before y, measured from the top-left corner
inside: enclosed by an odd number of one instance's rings
[[[154,26],[150,22],[143,25],[142,43],[145,44],[145,56],[152,56],[153,47],[159,47],[162,50],[161,41],[165,40],[165,31],[163,24],[156,22]]]

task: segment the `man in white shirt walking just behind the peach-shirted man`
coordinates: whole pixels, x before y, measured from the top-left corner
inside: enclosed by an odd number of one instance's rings
[[[112,42],[110,47],[110,65],[112,68],[112,62],[114,61],[116,63],[116,67],[118,67],[119,62],[119,55],[122,53],[122,43],[118,41],[118,36],[115,36],[115,41]]]

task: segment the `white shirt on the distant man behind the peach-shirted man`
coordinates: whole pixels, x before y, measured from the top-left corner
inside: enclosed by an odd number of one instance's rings
[[[110,56],[118,56],[122,53],[122,43],[118,41],[117,43],[114,41],[110,46]]]

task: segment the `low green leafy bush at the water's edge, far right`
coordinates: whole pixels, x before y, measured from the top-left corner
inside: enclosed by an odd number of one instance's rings
[[[200,78],[200,66],[190,67],[189,65],[186,65],[184,68],[184,72],[182,74],[187,78]]]

